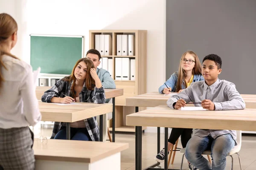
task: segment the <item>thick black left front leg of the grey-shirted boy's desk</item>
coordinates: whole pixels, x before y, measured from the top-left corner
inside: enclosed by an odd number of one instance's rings
[[[142,127],[135,126],[135,170],[142,170]]]

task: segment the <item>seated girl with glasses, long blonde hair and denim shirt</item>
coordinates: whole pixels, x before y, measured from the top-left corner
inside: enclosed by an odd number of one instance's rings
[[[186,51],[180,59],[178,72],[172,76],[158,89],[160,94],[170,94],[171,92],[180,93],[187,88],[192,82],[204,80],[201,74],[202,65],[197,54],[193,51]],[[168,86],[168,87],[166,87]],[[168,140],[168,152],[175,145],[177,139],[181,136],[182,147],[186,147],[187,142],[191,138],[192,129],[172,128],[171,135]],[[155,160],[158,162],[164,161],[164,148],[157,154]],[[189,168],[191,169],[191,164]]]

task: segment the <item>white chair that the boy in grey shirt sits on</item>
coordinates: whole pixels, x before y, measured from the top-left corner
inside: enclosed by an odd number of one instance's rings
[[[193,133],[194,133],[194,130],[193,130]],[[240,169],[242,170],[242,165],[241,165],[241,158],[240,158],[240,155],[239,155],[239,151],[241,149],[241,145],[242,145],[242,131],[241,130],[236,130],[236,142],[237,142],[237,145],[232,149],[230,150],[230,152],[227,154],[227,156],[230,156],[232,161],[231,161],[231,170],[233,170],[233,154],[237,154],[238,156],[238,159],[239,159],[239,164],[240,164]],[[183,153],[183,156],[182,156],[182,160],[181,160],[181,165],[180,165],[180,170],[182,170],[182,164],[183,164],[183,159],[184,159],[184,155],[185,155],[185,149],[186,148],[183,148],[180,150],[180,153]],[[211,150],[206,150],[202,153],[202,155],[210,155],[211,154]],[[209,159],[209,158],[208,158]]]

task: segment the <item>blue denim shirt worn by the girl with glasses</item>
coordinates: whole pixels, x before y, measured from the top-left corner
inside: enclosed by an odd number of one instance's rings
[[[201,74],[195,74],[194,75],[194,79],[193,82],[198,82],[204,80],[204,77]],[[170,88],[172,88],[172,92],[176,91],[176,85],[177,85],[177,81],[178,81],[178,72],[176,71],[174,74],[172,74],[172,76],[165,82],[166,85]],[[160,94],[163,94],[163,89],[166,88],[166,85],[163,84],[160,86],[160,88],[158,89]],[[185,89],[186,86],[184,84],[184,82],[181,85],[181,89]]]

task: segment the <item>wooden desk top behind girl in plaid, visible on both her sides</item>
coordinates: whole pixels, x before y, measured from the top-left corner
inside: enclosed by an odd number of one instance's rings
[[[43,96],[44,92],[49,90],[50,88],[52,88],[52,87],[37,86],[36,90],[35,90],[36,98],[38,100],[41,100],[41,97]],[[122,88],[104,89],[104,90],[105,90],[106,99],[124,95],[124,90]]]

